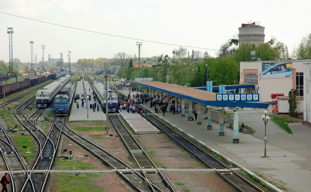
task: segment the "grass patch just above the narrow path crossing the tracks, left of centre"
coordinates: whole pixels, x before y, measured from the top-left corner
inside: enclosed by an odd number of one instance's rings
[[[55,168],[58,170],[73,170],[73,159],[72,160],[56,159]],[[95,168],[96,167],[92,165],[90,162],[83,162],[77,160],[75,163],[75,170],[87,170]]]

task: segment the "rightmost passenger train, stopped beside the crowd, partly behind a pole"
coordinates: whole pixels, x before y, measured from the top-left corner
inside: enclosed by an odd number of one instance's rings
[[[103,105],[106,109],[106,90],[102,82],[96,81],[94,83],[94,91],[97,97],[97,100],[100,104]],[[118,97],[113,92],[113,90],[108,89],[108,112],[115,112],[118,107]]]

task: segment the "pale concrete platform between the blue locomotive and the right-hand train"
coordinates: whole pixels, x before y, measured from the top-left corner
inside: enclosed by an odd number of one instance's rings
[[[91,86],[89,85],[89,82],[85,81],[85,86],[86,86],[86,90],[89,91],[89,88],[91,88]],[[77,109],[77,104],[72,103],[72,107],[71,107],[71,112],[70,112],[70,116],[69,116],[69,122],[72,121],[101,121],[101,120],[106,120],[106,115],[103,113],[101,107],[99,107],[99,111],[97,111],[97,107],[95,112],[93,112],[93,109],[90,109],[90,105],[89,102],[94,103],[94,99],[93,99],[93,93],[92,93],[92,88],[91,88],[91,101],[88,101],[88,106],[86,106],[86,101],[84,100],[84,108],[81,107],[81,99],[77,100],[77,102],[79,103],[79,109]],[[82,94],[83,93],[83,84],[82,81],[78,81],[77,83],[77,87],[76,87],[76,94]],[[98,102],[96,102],[96,104],[98,104]],[[87,115],[88,113],[88,115]],[[88,117],[87,117],[88,116]]]

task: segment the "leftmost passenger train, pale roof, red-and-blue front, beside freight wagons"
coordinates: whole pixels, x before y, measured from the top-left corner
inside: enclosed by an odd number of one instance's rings
[[[57,92],[67,83],[70,79],[70,75],[67,74],[58,80],[53,81],[49,85],[46,85],[43,89],[39,89],[36,94],[36,102],[39,108],[46,108],[49,103],[53,101],[53,98]]]

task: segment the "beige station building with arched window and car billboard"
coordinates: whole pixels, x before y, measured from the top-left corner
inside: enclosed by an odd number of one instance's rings
[[[239,84],[252,84],[254,88],[242,93],[259,93],[261,102],[272,102],[276,96],[288,96],[291,89],[298,89],[304,96],[304,65],[311,60],[240,62]]]

